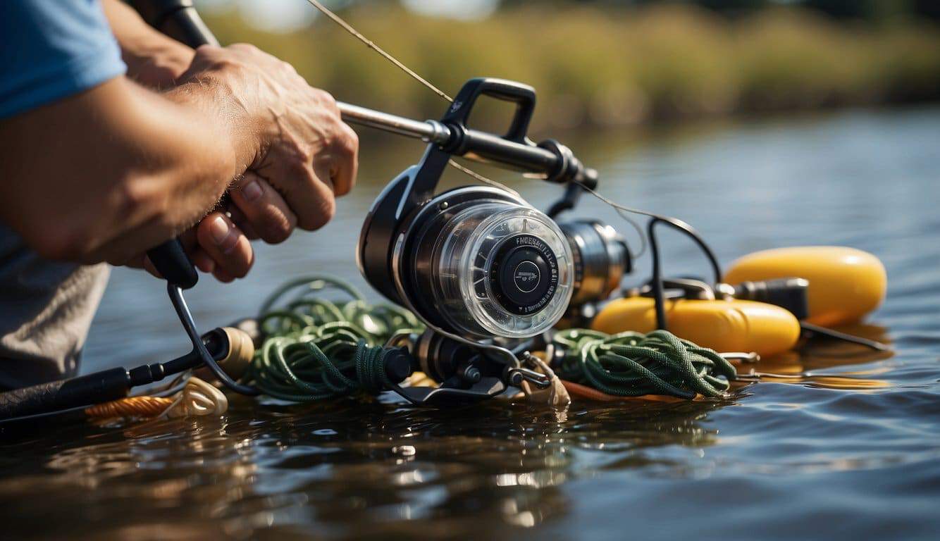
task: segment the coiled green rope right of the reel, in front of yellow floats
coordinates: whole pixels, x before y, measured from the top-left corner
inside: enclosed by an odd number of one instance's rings
[[[713,349],[666,331],[608,335],[570,329],[556,332],[554,343],[565,352],[556,371],[561,379],[615,396],[721,396],[737,376],[734,366]]]

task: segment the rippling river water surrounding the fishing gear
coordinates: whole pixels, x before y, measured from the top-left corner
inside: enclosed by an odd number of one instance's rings
[[[885,263],[865,327],[891,355],[818,344],[727,399],[567,410],[415,410],[235,400],[222,419],[71,426],[0,441],[3,537],[935,538],[940,528],[940,109],[854,111],[568,137],[602,192],[682,217],[727,264],[838,244]],[[189,295],[209,329],[290,277],[353,262],[363,213],[420,155],[364,144],[360,184],[317,234],[259,246],[255,270]],[[489,172],[489,171],[488,171]],[[544,208],[556,187],[505,175]],[[462,178],[451,178],[460,182]],[[626,231],[602,204],[579,210]],[[705,274],[665,233],[666,271]],[[643,259],[632,277],[648,274]],[[85,370],[185,351],[159,282],[117,270]]]

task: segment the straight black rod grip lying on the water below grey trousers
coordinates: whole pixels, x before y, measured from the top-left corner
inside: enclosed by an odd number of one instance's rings
[[[0,393],[0,421],[117,400],[127,395],[130,388],[127,370],[112,368],[78,378],[14,389]]]

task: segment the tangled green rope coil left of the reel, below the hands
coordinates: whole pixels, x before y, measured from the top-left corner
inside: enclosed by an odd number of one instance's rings
[[[339,289],[352,301],[319,297]],[[286,301],[290,291],[299,294]],[[282,309],[272,310],[275,305]],[[379,394],[393,383],[385,374],[384,343],[398,332],[421,332],[414,314],[393,305],[370,305],[349,283],[310,276],[280,286],[261,305],[265,335],[246,379],[275,398],[308,402],[357,392]]]

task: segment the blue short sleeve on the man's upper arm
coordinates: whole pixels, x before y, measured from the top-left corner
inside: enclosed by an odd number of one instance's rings
[[[99,0],[0,0],[0,118],[126,70]]]

